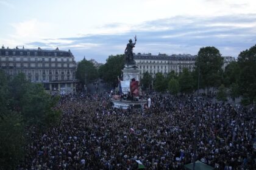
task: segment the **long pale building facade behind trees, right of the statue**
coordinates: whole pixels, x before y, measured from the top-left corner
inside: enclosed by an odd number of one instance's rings
[[[196,55],[166,55],[160,53],[158,55],[151,55],[151,53],[137,53],[134,55],[134,60],[140,69],[140,78],[143,78],[143,73],[145,72],[151,73],[154,78],[155,74],[159,72],[166,76],[172,70],[180,73],[183,68],[188,68],[188,70],[192,71]]]

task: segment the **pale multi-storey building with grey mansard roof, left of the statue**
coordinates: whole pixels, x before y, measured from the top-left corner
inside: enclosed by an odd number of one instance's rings
[[[76,92],[76,61],[68,51],[38,49],[0,50],[0,69],[9,78],[24,73],[27,80],[43,83],[44,89],[51,94],[73,94]]]

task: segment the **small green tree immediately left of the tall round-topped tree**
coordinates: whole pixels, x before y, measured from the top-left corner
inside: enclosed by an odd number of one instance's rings
[[[179,77],[180,92],[189,94],[193,92],[193,77],[187,68],[183,68]]]

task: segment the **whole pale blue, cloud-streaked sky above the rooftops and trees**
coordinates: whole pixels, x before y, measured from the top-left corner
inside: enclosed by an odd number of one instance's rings
[[[215,46],[238,56],[256,44],[256,1],[230,0],[0,0],[5,47],[70,49],[76,61],[124,53],[190,53]]]

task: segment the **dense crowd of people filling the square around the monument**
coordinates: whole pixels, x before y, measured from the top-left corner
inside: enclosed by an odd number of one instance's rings
[[[144,110],[113,109],[107,97],[60,101],[59,126],[31,135],[19,169],[184,169],[197,160],[216,169],[256,169],[252,108],[208,98],[151,96]],[[137,160],[137,161],[136,161]]]

